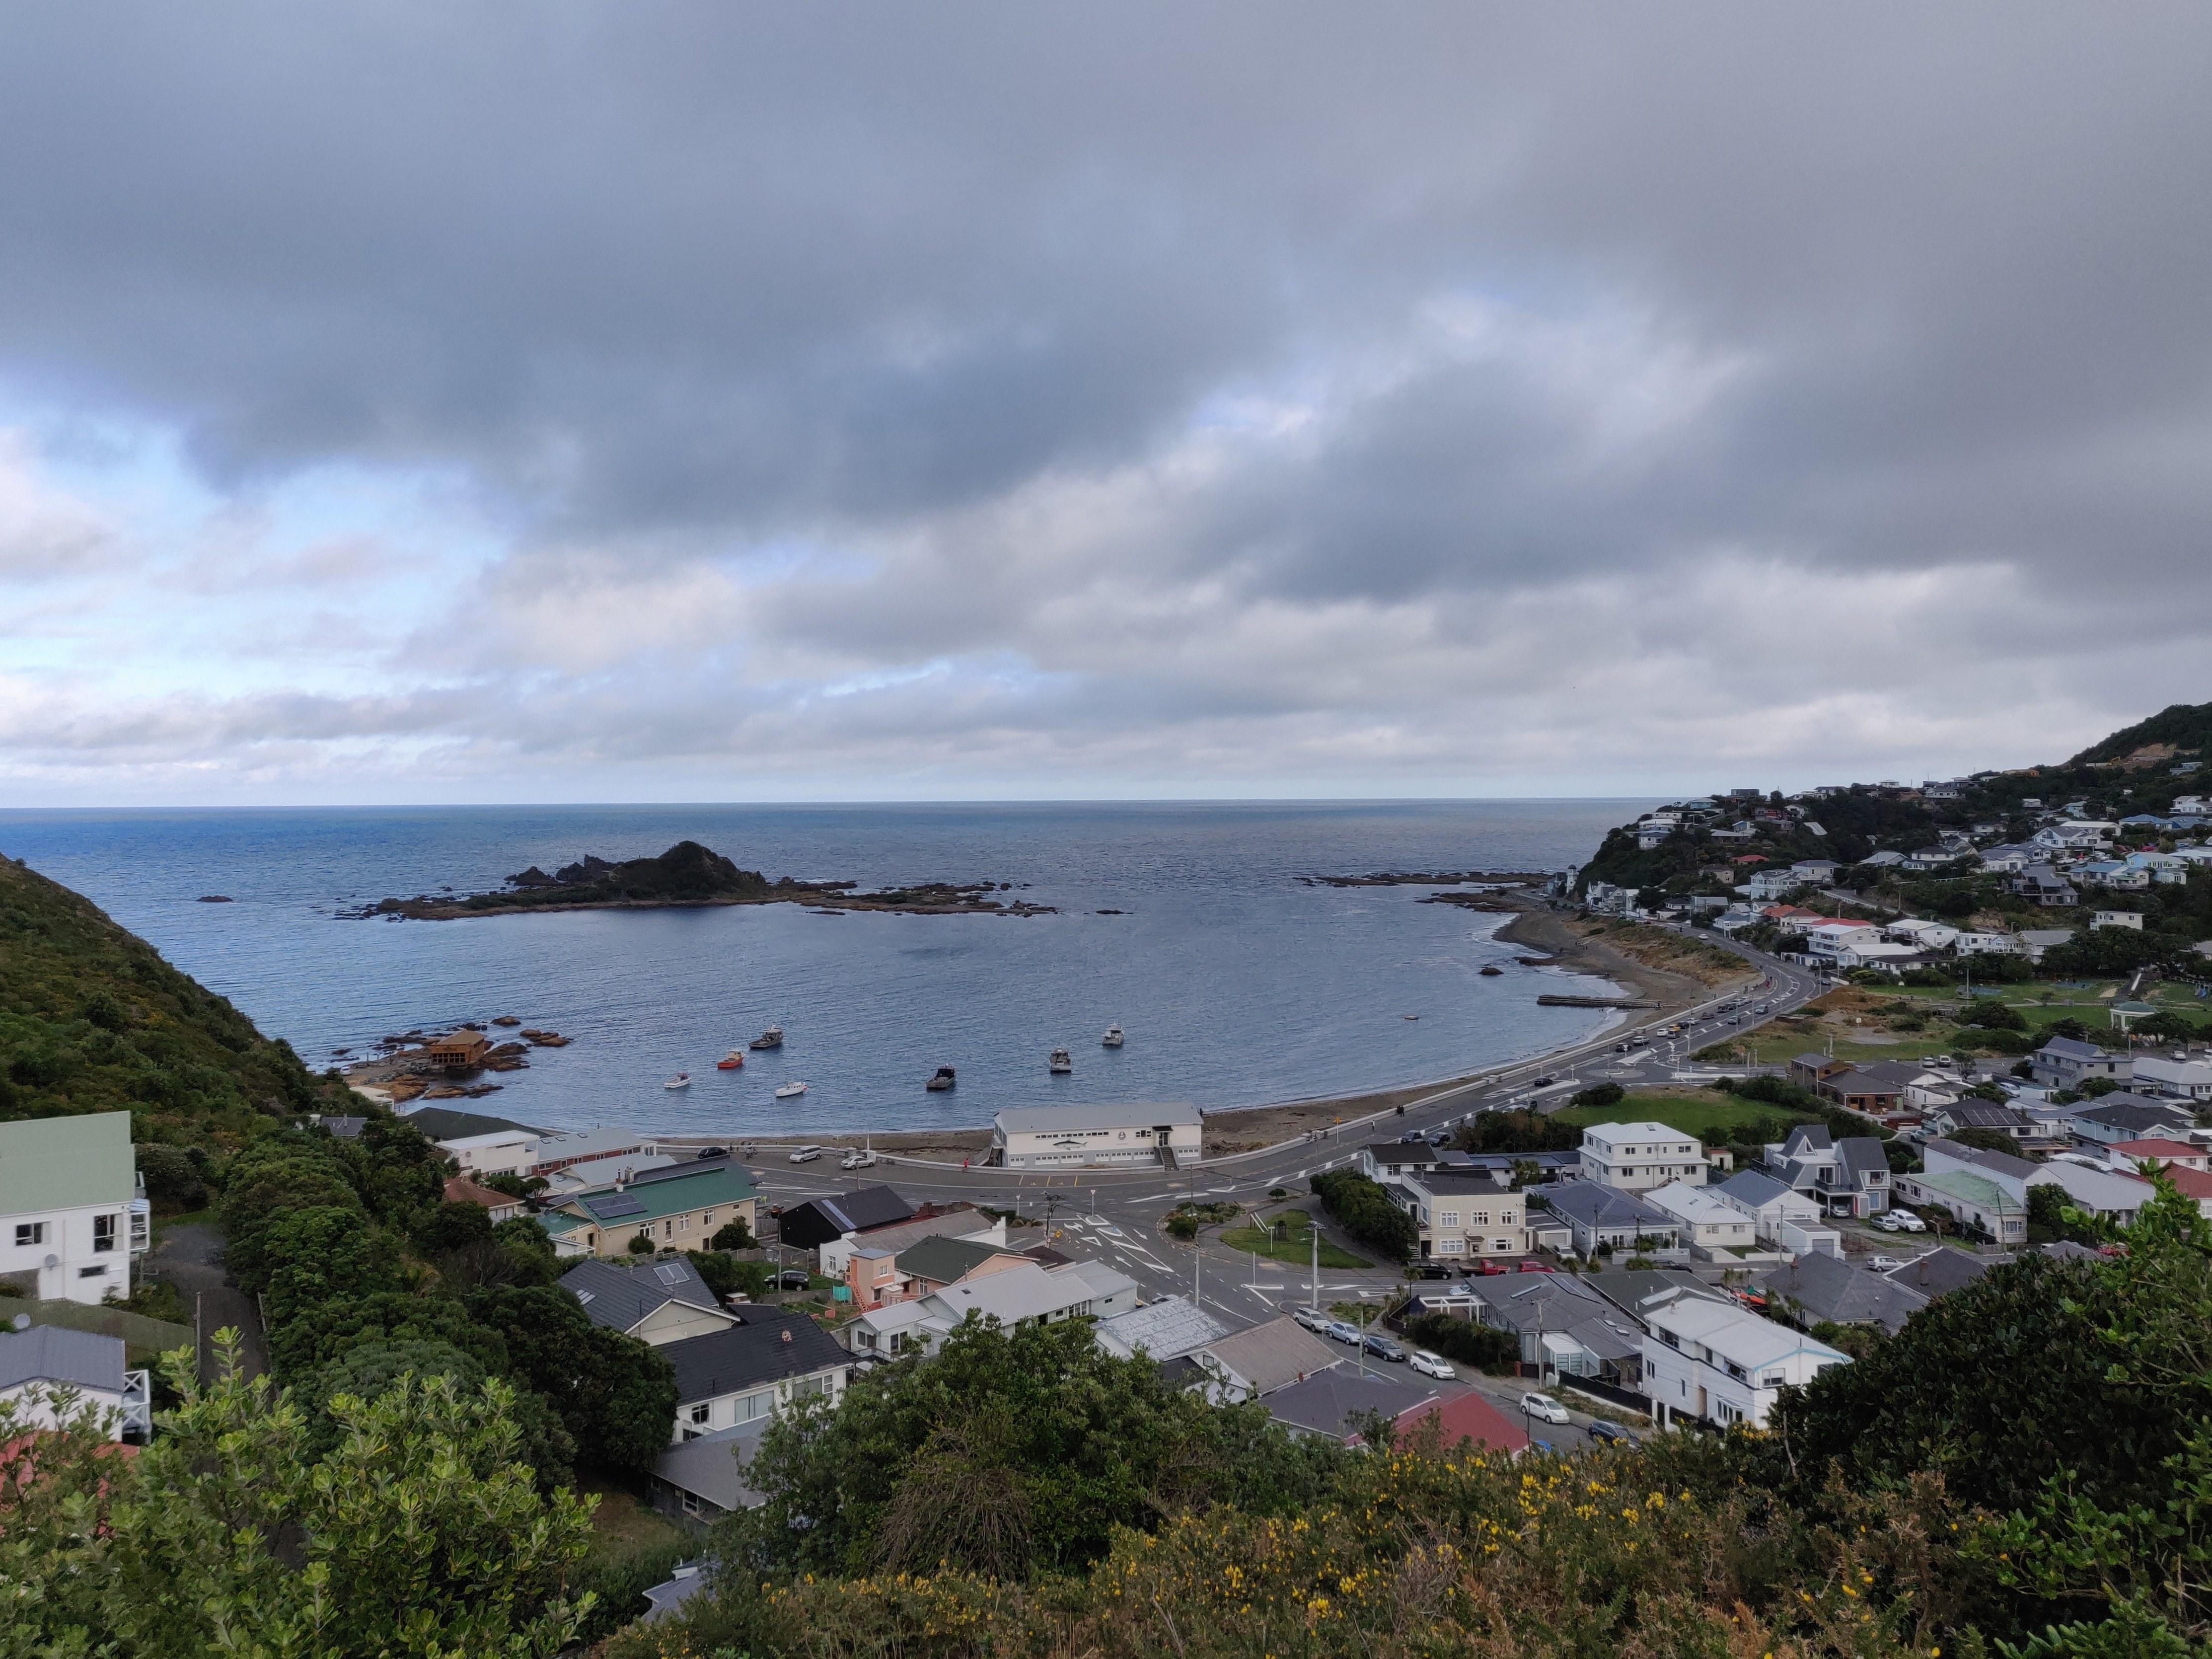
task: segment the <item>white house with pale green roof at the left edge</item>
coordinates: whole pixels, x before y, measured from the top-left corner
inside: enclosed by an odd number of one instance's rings
[[[150,1243],[131,1113],[0,1124],[0,1279],[42,1301],[119,1301]]]

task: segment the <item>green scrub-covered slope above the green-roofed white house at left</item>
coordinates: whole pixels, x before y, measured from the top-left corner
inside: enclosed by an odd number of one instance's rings
[[[290,1044],[0,856],[0,1119],[126,1108],[137,1141],[234,1146],[316,1091]]]

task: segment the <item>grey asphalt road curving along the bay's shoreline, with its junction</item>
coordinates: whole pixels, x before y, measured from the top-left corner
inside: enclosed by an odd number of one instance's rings
[[[1546,1104],[1564,1104],[1573,1093],[1564,1084],[1586,1088],[1608,1079],[1657,1084],[1719,1075],[1717,1068],[1694,1066],[1688,1057],[1714,1042],[1752,1033],[1765,1020],[1796,1009],[1825,987],[1801,967],[1747,945],[1710,938],[1743,956],[1747,967],[1763,975],[1763,982],[1747,991],[1710,998],[1663,1020],[1617,1026],[1573,1048],[1515,1062],[1473,1082],[1440,1088],[1409,1102],[1402,1115],[1391,1113],[1367,1124],[1345,1124],[1263,1152],[1241,1152],[1179,1170],[1062,1170],[1048,1175],[1040,1170],[960,1170],[887,1157],[876,1168],[845,1175],[832,1161],[834,1152],[825,1152],[818,1164],[792,1166],[776,1150],[763,1148],[754,1164],[754,1179],[768,1203],[796,1203],[887,1181],[916,1203],[967,1201],[1015,1210],[1040,1223],[1048,1221],[1053,1234],[1048,1243],[1055,1250],[1108,1261],[1126,1272],[1146,1298],[1190,1296],[1197,1285],[1208,1312],[1232,1325],[1259,1323],[1307,1301],[1312,1294],[1310,1270],[1303,1263],[1254,1263],[1250,1256],[1221,1250],[1212,1237],[1201,1239],[1197,1248],[1177,1243],[1159,1230],[1168,1210],[1186,1199],[1261,1208],[1272,1203],[1270,1192],[1276,1188],[1292,1197],[1305,1197],[1314,1175],[1354,1161],[1367,1141],[1449,1130],[1475,1113],[1524,1106],[1537,1097],[1540,1079],[1551,1079],[1544,1088],[1555,1091],[1546,1093]],[[1683,1026],[1679,1037],[1663,1035],[1666,1026],[1672,1024]],[[1617,1044],[1637,1037],[1644,1037],[1646,1046],[1628,1053],[1617,1051]],[[1772,1060],[1785,1057],[1781,1048],[1781,1044],[1774,1046]],[[1770,1055],[1761,1055],[1761,1060],[1770,1060]],[[1743,1066],[1728,1071],[1741,1073]],[[1323,1237],[1332,1237],[1325,1214],[1318,1212],[1318,1206],[1314,1210],[1323,1223]],[[1029,1228],[1020,1232],[1026,1241],[1040,1239]],[[1338,1243],[1360,1254],[1356,1245],[1340,1239]],[[1398,1283],[1400,1274],[1385,1267],[1323,1270],[1321,1301],[1380,1301]]]

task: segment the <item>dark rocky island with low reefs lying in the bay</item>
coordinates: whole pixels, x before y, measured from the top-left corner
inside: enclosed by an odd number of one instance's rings
[[[679,841],[657,858],[613,863],[586,854],[551,876],[538,865],[509,876],[495,894],[420,894],[383,898],[363,909],[341,911],[349,920],[407,918],[451,922],[465,916],[515,916],[557,909],[672,909],[679,905],[807,905],[814,909],[883,909],[905,916],[1051,916],[1051,905],[1022,898],[1002,900],[1011,883],[920,883],[863,894],[856,880],[770,880],[759,869],[741,869],[697,841]]]

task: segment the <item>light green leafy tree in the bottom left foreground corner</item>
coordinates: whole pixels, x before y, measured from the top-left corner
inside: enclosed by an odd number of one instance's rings
[[[540,1495],[515,1462],[504,1385],[341,1394],[336,1444],[316,1458],[305,1411],[239,1376],[234,1332],[217,1340],[217,1383],[195,1378],[188,1349],[164,1358],[179,1407],[137,1458],[104,1455],[77,1420],[15,1436],[0,1402],[0,1650],[544,1659],[575,1632],[584,1608],[562,1579],[591,1509]]]

